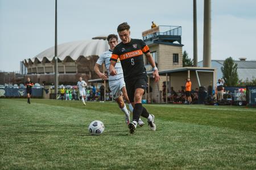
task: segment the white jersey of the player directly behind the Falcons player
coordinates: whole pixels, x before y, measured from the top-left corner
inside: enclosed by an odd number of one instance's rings
[[[115,64],[115,70],[117,70],[117,75],[110,75],[109,73],[109,65],[110,65],[110,57],[112,56],[112,51],[108,50],[100,55],[100,58],[97,60],[97,64],[102,65],[102,63],[105,63],[106,70],[108,70],[108,76],[109,76],[109,86],[112,84],[117,84],[119,80],[123,79],[123,69],[120,60],[118,59],[117,63]]]

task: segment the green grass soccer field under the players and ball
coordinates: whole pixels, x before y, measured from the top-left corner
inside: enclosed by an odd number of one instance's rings
[[[157,130],[131,135],[115,103],[31,102],[0,99],[0,169],[256,169],[255,108],[144,105]]]

